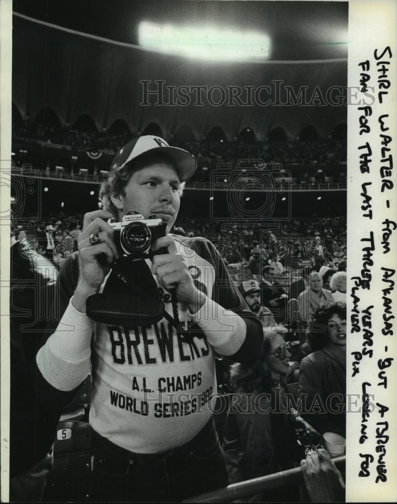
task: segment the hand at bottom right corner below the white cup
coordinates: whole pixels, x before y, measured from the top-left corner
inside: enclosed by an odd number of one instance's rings
[[[311,502],[345,501],[345,482],[327,450],[311,452],[300,466]]]

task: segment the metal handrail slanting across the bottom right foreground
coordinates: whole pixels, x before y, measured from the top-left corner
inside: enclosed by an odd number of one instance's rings
[[[332,459],[339,471],[344,472],[346,468],[346,456]],[[183,502],[233,502],[241,499],[263,493],[281,486],[290,486],[295,483],[303,483],[303,473],[300,467],[294,467],[286,471],[280,471],[275,474],[261,476],[260,478],[233,483],[225,488],[219,488],[211,492],[202,493],[194,497],[189,497]]]

